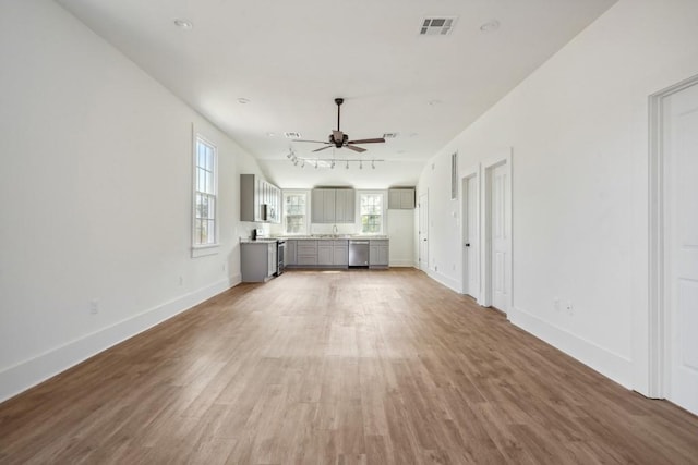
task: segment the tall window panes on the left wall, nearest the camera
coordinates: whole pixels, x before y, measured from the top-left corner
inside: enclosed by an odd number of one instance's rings
[[[216,245],[216,147],[196,136],[194,148],[194,247]]]

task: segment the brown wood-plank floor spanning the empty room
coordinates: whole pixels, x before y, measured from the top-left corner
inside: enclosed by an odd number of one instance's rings
[[[0,463],[698,463],[698,418],[416,270],[241,284],[0,404]]]

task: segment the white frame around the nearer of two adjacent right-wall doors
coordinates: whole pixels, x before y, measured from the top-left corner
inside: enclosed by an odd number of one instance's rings
[[[514,222],[513,222],[513,185],[512,180],[512,148],[502,149],[497,154],[485,159],[481,163],[481,183],[480,183],[480,295],[478,296],[478,304],[483,307],[492,306],[492,181],[490,174],[492,169],[504,164],[506,167],[507,179],[507,192],[508,192],[508,211],[505,212],[506,220],[509,222],[509,238],[507,241],[507,260],[504,265],[507,271],[506,286],[509,291],[509,298],[506,303],[507,308],[500,308],[500,310],[507,314],[512,313],[514,308],[514,268],[513,268],[513,235],[514,235]]]

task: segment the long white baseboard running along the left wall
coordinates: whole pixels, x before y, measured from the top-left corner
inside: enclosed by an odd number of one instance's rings
[[[220,294],[240,281],[240,274],[225,278],[0,371],[0,402]]]

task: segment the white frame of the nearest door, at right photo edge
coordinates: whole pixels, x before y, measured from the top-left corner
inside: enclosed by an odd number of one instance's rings
[[[698,85],[698,75],[666,87],[649,97],[649,285],[648,313],[634,325],[637,356],[636,383],[649,397],[665,399],[667,394],[669,313],[666,305],[664,237],[664,100],[688,87]],[[642,321],[643,320],[643,321]],[[642,389],[642,388],[647,389]]]

